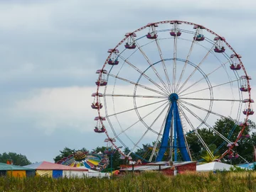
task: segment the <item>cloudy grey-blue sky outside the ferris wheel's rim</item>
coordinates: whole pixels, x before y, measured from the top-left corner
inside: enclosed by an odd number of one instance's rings
[[[53,162],[64,147],[105,145],[93,132],[95,70],[124,33],[146,23],[191,21],[225,36],[253,90],[255,7],[249,0],[0,1],[0,153]]]

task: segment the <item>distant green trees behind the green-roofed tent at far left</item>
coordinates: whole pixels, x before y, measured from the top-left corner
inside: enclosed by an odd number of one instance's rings
[[[17,154],[15,152],[4,152],[0,154],[0,162],[6,163],[7,161],[12,161],[14,165],[25,166],[31,164],[27,157],[23,154]]]

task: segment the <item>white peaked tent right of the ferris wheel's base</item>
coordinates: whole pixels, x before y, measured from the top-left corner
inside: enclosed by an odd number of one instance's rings
[[[196,171],[229,171],[231,164],[223,164],[220,162],[210,162],[208,164],[200,164],[196,166]]]

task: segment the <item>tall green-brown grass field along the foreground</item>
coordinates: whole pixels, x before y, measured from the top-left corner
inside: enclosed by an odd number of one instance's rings
[[[164,176],[157,172],[127,174],[113,179],[18,179],[0,177],[0,191],[256,191],[256,171],[187,173]]]

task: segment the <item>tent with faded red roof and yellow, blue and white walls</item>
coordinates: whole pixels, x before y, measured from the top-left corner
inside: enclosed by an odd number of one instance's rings
[[[36,169],[36,176],[59,177],[85,177],[88,176],[88,169],[80,169],[73,166],[54,164],[51,162],[39,162],[24,167]]]

